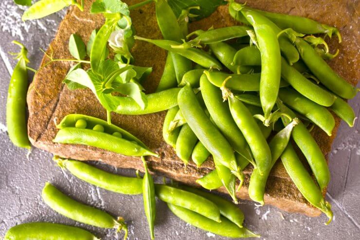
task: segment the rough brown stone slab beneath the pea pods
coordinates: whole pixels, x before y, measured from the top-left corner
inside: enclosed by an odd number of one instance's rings
[[[90,32],[99,28],[103,18],[99,15],[90,15],[91,0],[85,0],[86,9],[80,12],[77,8],[70,9],[69,13],[61,22],[58,32],[47,52],[53,52],[54,58],[70,58],[68,41],[72,33],[79,34],[86,42]],[[129,4],[137,1],[127,1]],[[248,5],[259,9],[281,12],[286,14],[307,16],[320,22],[335,25],[342,33],[341,45],[334,38],[330,41],[331,49],[340,49],[340,55],[331,61],[330,65],[342,77],[355,84],[360,76],[359,58],[359,33],[357,30],[356,3],[354,1],[321,0],[289,0],[289,1],[267,1],[248,0]],[[148,4],[131,12],[133,24],[137,34],[147,38],[162,38],[158,29],[154,3]],[[221,6],[210,17],[191,24],[191,30],[206,30],[211,26],[215,28],[232,26],[237,24],[228,14],[227,6]],[[133,48],[136,65],[152,66],[153,72],[144,82],[146,93],[154,92],[165,61],[166,53],[151,44],[137,41]],[[44,58],[42,65],[48,59]],[[84,145],[54,144],[52,142],[58,123],[64,116],[70,113],[82,113],[102,119],[106,119],[106,111],[102,108],[90,90],[70,91],[62,80],[71,64],[67,62],[56,62],[43,68],[35,77],[29,92],[29,136],[32,144],[38,148],[47,150],[56,155],[77,160],[100,160],[115,167],[134,168],[142,170],[139,158],[126,157],[112,152],[88,147]],[[192,162],[184,171],[182,161],[176,156],[174,150],[162,139],[162,122],[165,112],[147,114],[141,116],[127,116],[112,114],[112,122],[141,139],[147,146],[160,155],[160,158],[150,157],[149,167],[158,175],[168,176],[189,185],[196,185],[195,180],[208,173],[214,168],[211,161],[205,162],[197,169]],[[312,131],[326,158],[331,148],[340,120],[336,118],[336,128],[332,137],[328,137],[319,128]],[[238,197],[249,199],[247,186],[251,167],[245,169],[246,181],[238,192]],[[219,189],[225,192],[224,189]],[[289,212],[299,212],[308,216],[318,216],[320,211],[312,208],[296,189],[287,175],[283,165],[279,161],[270,173],[265,194],[265,203],[276,206]]]

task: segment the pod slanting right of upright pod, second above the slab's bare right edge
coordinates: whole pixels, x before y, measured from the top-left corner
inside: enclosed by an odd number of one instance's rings
[[[336,97],[333,94],[306,79],[303,74],[290,66],[284,58],[281,59],[281,76],[296,91],[317,104],[329,107],[335,101]]]

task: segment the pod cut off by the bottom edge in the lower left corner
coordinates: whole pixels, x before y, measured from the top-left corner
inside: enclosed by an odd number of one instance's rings
[[[52,223],[27,223],[10,228],[4,240],[100,240],[90,232],[73,226]]]

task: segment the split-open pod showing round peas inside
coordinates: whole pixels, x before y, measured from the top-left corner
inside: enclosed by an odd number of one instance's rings
[[[126,156],[157,156],[126,130],[95,117],[69,114],[56,127],[60,130],[54,143],[83,144]]]

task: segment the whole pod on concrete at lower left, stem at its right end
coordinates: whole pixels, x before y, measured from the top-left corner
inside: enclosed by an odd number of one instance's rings
[[[122,218],[117,221],[103,210],[79,203],[60,192],[49,182],[45,184],[41,197],[50,208],[67,218],[97,227],[124,229],[124,239],[127,237],[127,226]]]

